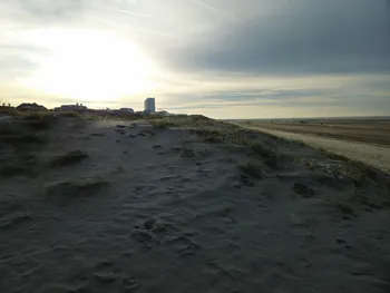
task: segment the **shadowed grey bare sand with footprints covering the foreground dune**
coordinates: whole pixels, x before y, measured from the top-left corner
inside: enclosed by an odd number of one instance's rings
[[[389,292],[388,177],[238,131],[51,129],[0,177],[0,292]]]

